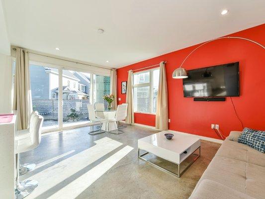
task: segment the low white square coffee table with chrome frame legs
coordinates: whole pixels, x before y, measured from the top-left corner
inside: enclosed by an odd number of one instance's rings
[[[168,140],[165,137],[165,133],[172,133],[174,137]],[[146,151],[140,154],[140,150]],[[198,150],[198,153],[194,153]],[[177,164],[177,173],[173,173],[165,168],[162,168],[149,160],[143,158],[148,153],[152,153],[160,158],[168,160],[172,163]],[[188,164],[180,172],[180,164],[190,155],[194,155],[193,161]],[[192,135],[183,135],[168,131],[162,131],[138,140],[138,157],[151,165],[166,171],[170,174],[177,176],[178,178],[198,159],[200,156],[200,139]]]

